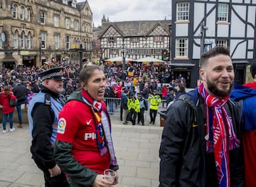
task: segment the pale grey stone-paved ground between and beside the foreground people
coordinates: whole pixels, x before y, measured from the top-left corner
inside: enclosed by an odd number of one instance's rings
[[[159,145],[163,129],[159,125],[159,114],[154,125],[149,124],[149,114],[146,115],[145,126],[132,126],[131,122],[124,125],[119,121],[119,114],[112,114],[111,120],[114,148],[119,161],[117,187],[158,186]],[[28,124],[24,124],[23,129],[16,128],[15,132],[0,134],[0,187],[44,186],[43,173],[31,159],[30,146]]]

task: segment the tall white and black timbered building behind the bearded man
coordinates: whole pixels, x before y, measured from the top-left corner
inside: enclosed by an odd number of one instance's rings
[[[195,87],[201,54],[221,45],[230,48],[235,82],[245,82],[245,67],[256,59],[256,0],[172,2],[172,78],[181,73]]]

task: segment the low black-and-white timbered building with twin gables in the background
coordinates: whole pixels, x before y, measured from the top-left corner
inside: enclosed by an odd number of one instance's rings
[[[171,20],[102,24],[102,59],[125,55],[134,60],[146,56],[162,60],[163,53],[169,54],[170,24]],[[164,60],[169,60],[169,55]]]

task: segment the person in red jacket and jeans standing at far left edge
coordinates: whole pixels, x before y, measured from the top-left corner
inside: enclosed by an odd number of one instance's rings
[[[6,85],[4,86],[3,91],[0,94],[0,105],[2,106],[3,112],[3,133],[6,134],[8,129],[6,129],[6,120],[9,116],[9,123],[10,123],[10,132],[14,132],[15,128],[14,124],[14,108],[13,106],[9,105],[10,99],[16,100],[16,96],[13,92],[11,92],[11,86]]]

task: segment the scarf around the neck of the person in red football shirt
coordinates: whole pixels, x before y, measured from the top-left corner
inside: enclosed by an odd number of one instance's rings
[[[114,154],[114,146],[111,137],[110,116],[107,109],[102,107],[102,102],[94,100],[87,91],[82,90],[82,100],[92,109],[95,117],[95,132],[100,155],[110,152],[110,165],[117,166],[117,159]]]

